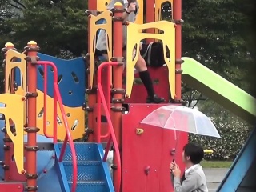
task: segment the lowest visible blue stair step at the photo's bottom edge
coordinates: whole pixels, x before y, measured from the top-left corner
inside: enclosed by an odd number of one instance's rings
[[[69,182],[69,186],[71,189],[72,182]],[[102,181],[91,181],[91,182],[86,182],[86,181],[81,181],[78,182],[76,192],[85,192],[85,191],[90,191],[90,192],[107,192],[110,191],[108,189],[107,183],[102,182]]]

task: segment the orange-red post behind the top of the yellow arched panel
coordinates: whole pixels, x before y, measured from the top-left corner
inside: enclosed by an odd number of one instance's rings
[[[154,21],[154,0],[146,0],[146,11],[144,10],[144,13],[146,13],[146,23],[148,22],[155,22]],[[154,29],[148,29],[146,30],[147,33],[154,34]],[[155,40],[152,38],[147,38],[146,43],[154,42]]]

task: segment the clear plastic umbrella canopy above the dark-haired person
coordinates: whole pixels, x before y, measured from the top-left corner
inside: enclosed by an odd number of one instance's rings
[[[198,110],[185,106],[161,106],[148,114],[141,123],[163,129],[221,138],[210,118]]]

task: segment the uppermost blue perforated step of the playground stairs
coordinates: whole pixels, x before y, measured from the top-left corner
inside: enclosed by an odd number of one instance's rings
[[[58,147],[59,149],[62,148],[62,142],[58,143]],[[76,151],[77,161],[99,160],[99,154],[95,152],[98,150],[96,143],[74,142],[74,147]],[[66,145],[66,151],[63,161],[72,161],[70,145]]]

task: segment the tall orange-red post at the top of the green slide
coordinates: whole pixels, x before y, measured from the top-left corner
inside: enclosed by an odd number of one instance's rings
[[[174,1],[175,27],[175,101],[180,102],[182,98],[182,0]]]

